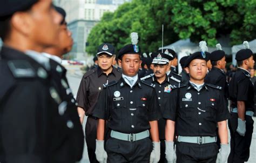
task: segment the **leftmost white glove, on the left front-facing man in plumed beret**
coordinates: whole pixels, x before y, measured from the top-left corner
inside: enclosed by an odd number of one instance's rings
[[[104,150],[104,140],[97,140],[96,139],[96,159],[99,161],[99,163],[106,163],[107,161],[107,153]]]

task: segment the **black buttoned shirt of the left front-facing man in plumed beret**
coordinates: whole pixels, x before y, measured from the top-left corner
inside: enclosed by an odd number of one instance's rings
[[[107,125],[111,130],[122,133],[139,133],[149,130],[149,121],[160,118],[156,91],[151,84],[145,84],[145,81],[138,79],[131,88],[123,78],[109,83],[109,86],[100,92],[93,116],[105,119],[107,92],[109,115],[106,119],[109,119]]]

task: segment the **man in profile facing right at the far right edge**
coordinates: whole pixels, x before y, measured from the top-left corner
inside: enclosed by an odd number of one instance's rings
[[[239,50],[235,55],[239,67],[228,86],[231,100],[231,118],[228,120],[231,135],[229,163],[246,162],[250,157],[254,90],[248,70],[253,69],[254,60],[248,42],[244,42],[244,46],[246,49]]]

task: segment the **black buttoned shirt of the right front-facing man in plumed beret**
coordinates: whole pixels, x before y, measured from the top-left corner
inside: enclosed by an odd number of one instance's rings
[[[172,101],[177,103],[166,107],[163,115],[166,119],[176,121],[177,135],[214,137],[217,122],[226,120],[229,116],[223,93],[218,86],[205,84],[198,92],[188,82],[180,89],[173,89]],[[176,108],[178,108],[177,120]]]

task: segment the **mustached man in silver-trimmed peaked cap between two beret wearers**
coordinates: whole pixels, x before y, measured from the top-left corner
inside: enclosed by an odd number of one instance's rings
[[[172,59],[170,55],[165,53],[154,52],[151,57],[154,64],[154,75],[146,76],[145,81],[153,83],[157,92],[157,98],[160,105],[161,113],[164,112],[165,107],[170,106],[170,94],[172,93],[172,87],[179,86],[178,79],[171,76],[167,76],[166,72],[169,70],[169,60]],[[165,162],[165,119],[158,120],[159,139],[161,145],[161,154],[159,162]]]

